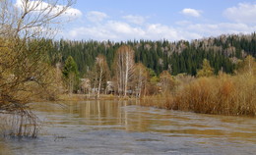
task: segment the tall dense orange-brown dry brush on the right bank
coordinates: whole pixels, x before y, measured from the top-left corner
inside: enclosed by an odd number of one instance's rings
[[[197,78],[166,98],[167,109],[205,114],[256,115],[256,78],[220,75]]]

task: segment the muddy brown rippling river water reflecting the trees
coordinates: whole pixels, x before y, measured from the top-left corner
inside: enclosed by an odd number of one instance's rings
[[[255,154],[256,119],[141,107],[136,101],[33,105],[37,138],[0,140],[3,155]]]

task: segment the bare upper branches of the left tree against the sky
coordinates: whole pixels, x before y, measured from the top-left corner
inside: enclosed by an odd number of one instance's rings
[[[74,0],[1,0],[0,34],[23,39],[52,36],[64,16],[74,16],[73,4]]]

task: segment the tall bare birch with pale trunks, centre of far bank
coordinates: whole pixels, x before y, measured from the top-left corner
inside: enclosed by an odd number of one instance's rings
[[[126,96],[134,72],[134,51],[130,46],[117,49],[114,67],[118,93]]]

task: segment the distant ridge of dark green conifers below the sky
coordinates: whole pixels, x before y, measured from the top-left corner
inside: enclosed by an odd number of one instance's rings
[[[171,75],[188,74],[195,76],[202,68],[204,59],[210,61],[215,74],[223,71],[232,74],[239,61],[247,55],[256,57],[256,34],[230,34],[218,37],[195,39],[192,41],[133,40],[112,41],[70,41],[46,40],[49,44],[49,59],[52,65],[64,62],[72,56],[78,65],[80,77],[92,70],[98,54],[106,57],[110,71],[116,50],[121,45],[129,45],[135,51],[135,62],[143,63],[157,75],[169,71]]]

